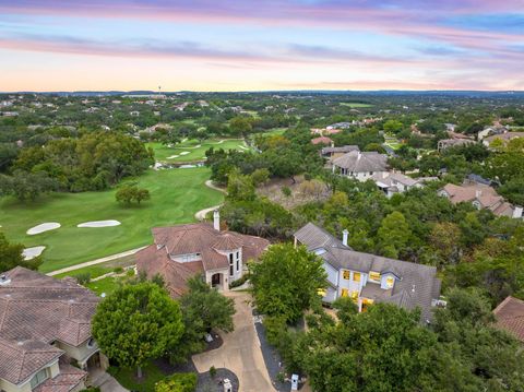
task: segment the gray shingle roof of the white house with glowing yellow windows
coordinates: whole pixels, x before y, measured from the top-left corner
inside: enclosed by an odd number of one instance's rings
[[[325,249],[326,252],[320,257],[337,270],[393,273],[398,280],[395,282],[391,296],[376,295],[371,299],[396,304],[407,309],[418,307],[421,310],[421,320],[431,320],[431,302],[440,296],[440,281],[437,278],[434,266],[354,251],[312,223],[300,228],[295,237],[310,251]],[[366,292],[370,289],[366,286]],[[382,290],[382,293],[385,292],[388,290]]]

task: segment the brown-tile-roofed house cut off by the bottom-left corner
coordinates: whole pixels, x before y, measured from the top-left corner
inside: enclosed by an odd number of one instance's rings
[[[107,367],[91,334],[99,298],[17,266],[0,275],[0,391],[80,391]],[[72,366],[74,364],[75,366]]]

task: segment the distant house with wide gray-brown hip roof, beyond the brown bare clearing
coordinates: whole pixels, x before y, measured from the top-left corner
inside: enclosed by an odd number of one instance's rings
[[[388,156],[372,152],[352,151],[331,161],[332,170],[360,181],[388,171]]]

